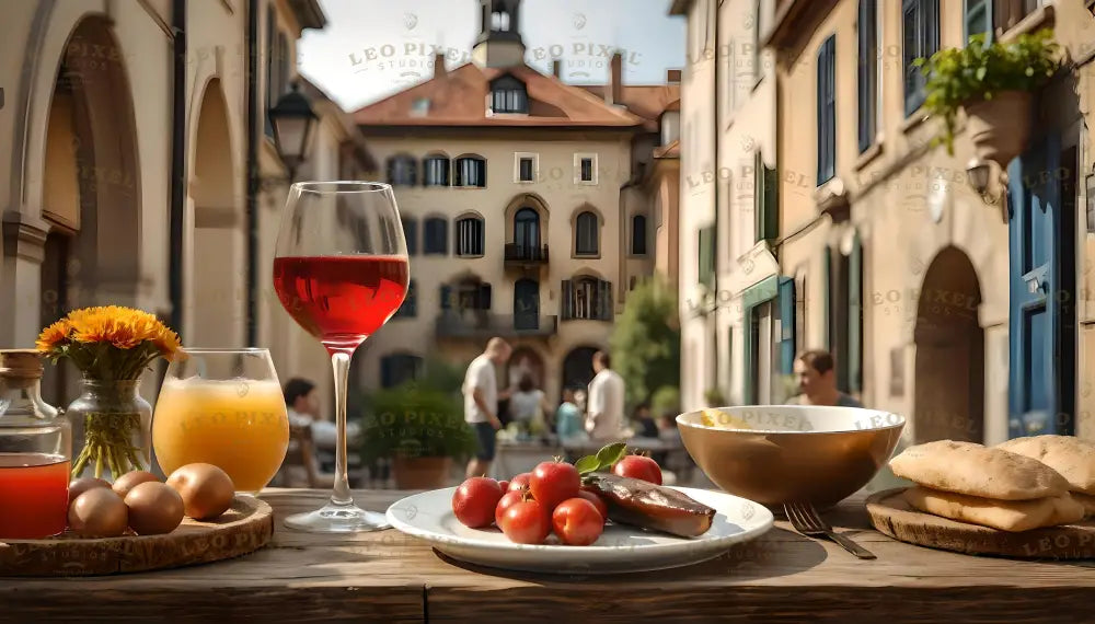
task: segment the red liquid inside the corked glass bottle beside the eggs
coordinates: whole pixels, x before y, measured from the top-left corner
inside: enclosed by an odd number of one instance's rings
[[[0,453],[0,539],[41,540],[68,524],[69,461],[45,453]]]

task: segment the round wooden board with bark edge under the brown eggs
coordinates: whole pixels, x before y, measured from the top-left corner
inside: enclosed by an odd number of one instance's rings
[[[87,539],[64,533],[48,540],[0,541],[2,576],[93,576],[176,568],[238,557],[274,535],[274,510],[237,496],[219,518],[183,523],[164,535]]]

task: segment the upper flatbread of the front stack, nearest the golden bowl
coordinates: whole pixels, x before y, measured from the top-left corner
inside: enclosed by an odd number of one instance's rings
[[[1038,460],[973,442],[909,447],[890,460],[894,474],[924,487],[998,500],[1061,496],[1069,482]]]

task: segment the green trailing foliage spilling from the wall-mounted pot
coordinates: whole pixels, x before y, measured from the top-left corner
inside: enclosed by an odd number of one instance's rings
[[[989,44],[983,34],[963,48],[944,48],[913,63],[927,78],[924,108],[943,118],[943,143],[954,155],[958,109],[992,100],[1006,91],[1036,91],[1061,67],[1060,47],[1052,28],[1023,34],[1007,43]]]

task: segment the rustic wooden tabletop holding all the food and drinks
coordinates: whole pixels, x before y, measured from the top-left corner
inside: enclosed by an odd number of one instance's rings
[[[358,492],[385,509],[405,493]],[[326,494],[272,489],[278,518]],[[239,559],[158,573],[0,580],[0,621],[262,622],[1091,622],[1095,563],[964,556],[868,529],[862,499],[827,517],[878,555],[860,561],[785,522],[688,568],[551,577],[448,561],[396,531],[281,528]],[[261,620],[260,620],[261,619]]]

